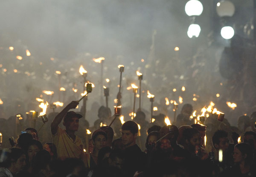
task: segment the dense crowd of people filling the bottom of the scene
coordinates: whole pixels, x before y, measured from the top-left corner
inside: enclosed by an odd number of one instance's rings
[[[10,138],[11,147],[1,148],[0,177],[256,176],[256,112],[239,117],[238,127],[216,114],[195,124],[185,104],[172,125],[162,114],[148,123],[138,110],[133,120],[106,126],[113,117],[102,106],[88,134],[82,115],[70,111],[78,104],[72,101],[50,121],[52,141],[42,144],[47,138],[35,128],[23,130],[17,142]],[[79,129],[84,133],[76,134]]]

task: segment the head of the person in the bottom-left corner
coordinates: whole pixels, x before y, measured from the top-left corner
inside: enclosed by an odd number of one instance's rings
[[[20,148],[10,148],[7,152],[7,160],[4,161],[2,166],[8,168],[14,174],[17,173],[26,166],[25,153]]]

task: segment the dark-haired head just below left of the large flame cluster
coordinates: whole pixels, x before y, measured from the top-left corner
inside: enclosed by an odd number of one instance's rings
[[[186,140],[186,147],[195,149],[195,146],[201,145],[199,131],[195,128],[187,128],[183,131],[183,137]]]

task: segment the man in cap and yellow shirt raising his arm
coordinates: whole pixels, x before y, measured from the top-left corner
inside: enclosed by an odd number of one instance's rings
[[[82,115],[69,111],[76,108],[78,104],[78,101],[69,103],[51,123],[52,142],[57,148],[58,158],[82,158],[84,145],[82,140],[75,135],[79,128],[79,119]],[[63,118],[63,125],[66,127],[66,130],[58,126]]]

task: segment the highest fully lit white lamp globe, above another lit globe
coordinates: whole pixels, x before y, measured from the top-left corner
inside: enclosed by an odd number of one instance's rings
[[[199,16],[203,12],[203,5],[199,0],[189,0],[185,6],[185,12],[188,16]]]

